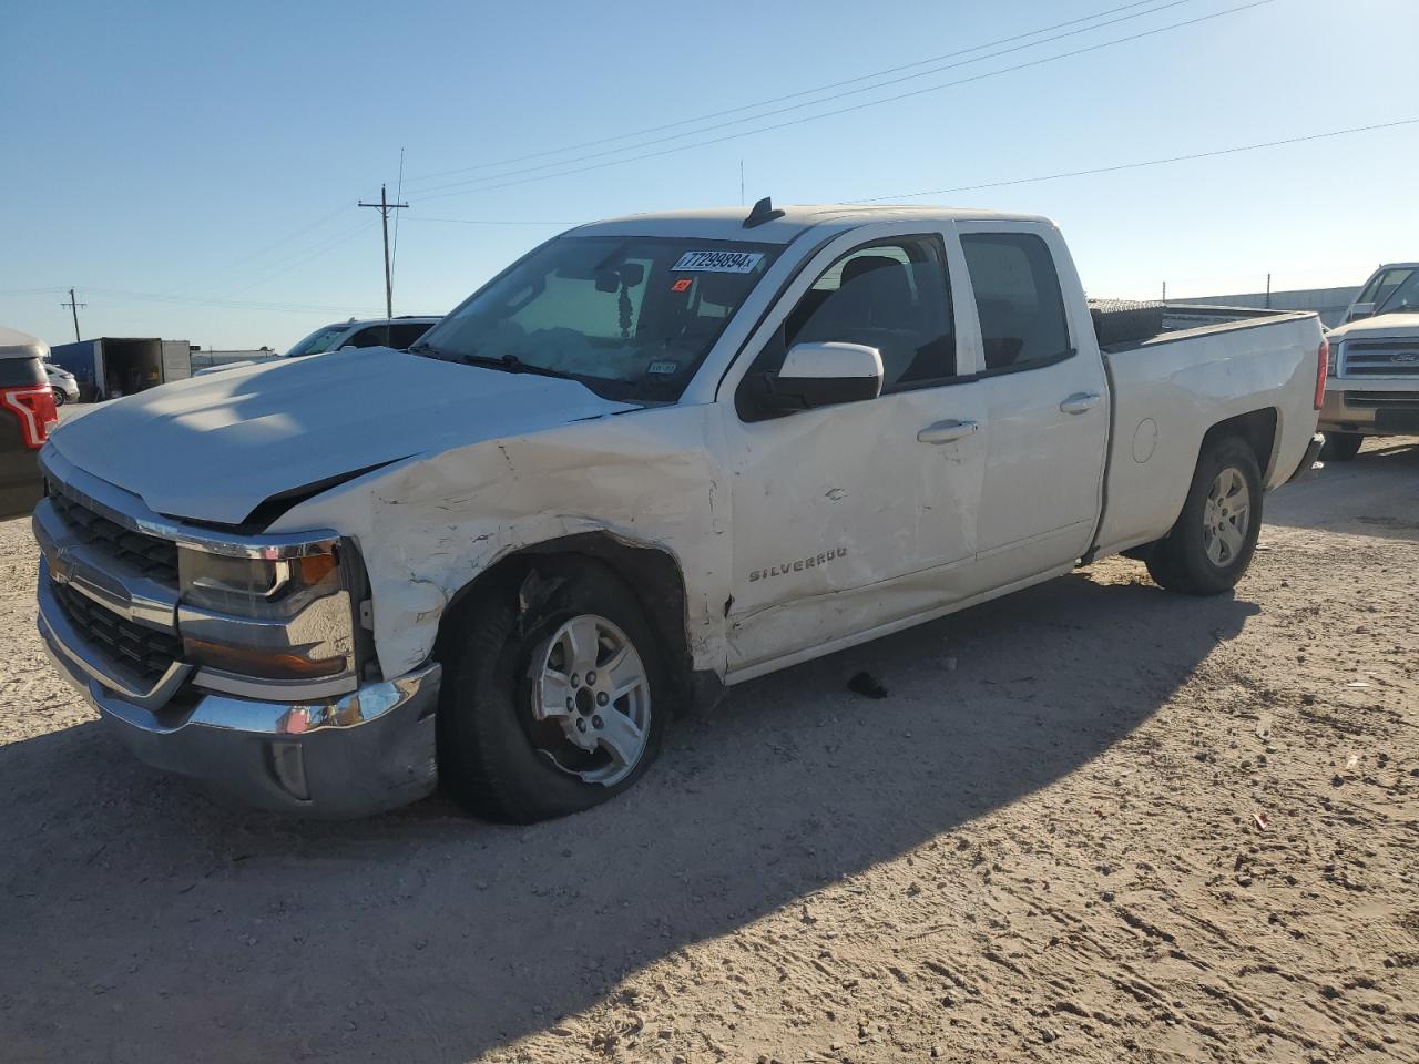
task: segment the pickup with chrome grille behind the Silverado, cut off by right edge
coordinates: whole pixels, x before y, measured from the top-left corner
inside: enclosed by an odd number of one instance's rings
[[[1328,339],[1323,457],[1349,461],[1366,436],[1419,436],[1419,264],[1376,270]]]

